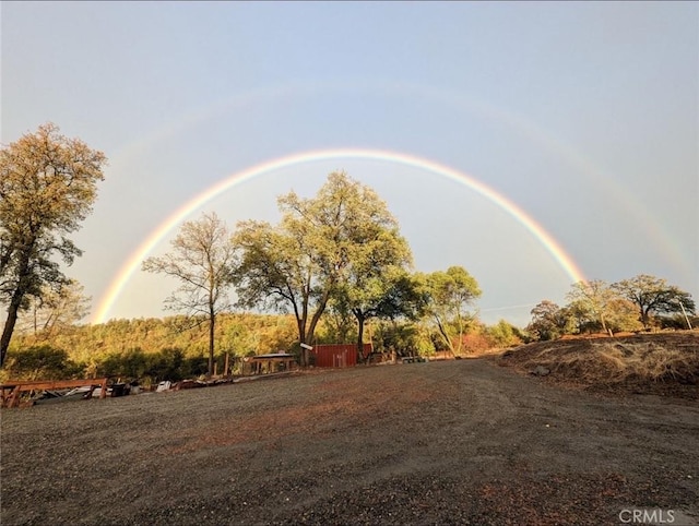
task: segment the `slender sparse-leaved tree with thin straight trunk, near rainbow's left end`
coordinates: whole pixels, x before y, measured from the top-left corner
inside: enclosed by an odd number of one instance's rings
[[[173,276],[179,288],[165,300],[166,308],[183,311],[190,319],[209,323],[209,374],[214,368],[216,315],[230,307],[227,289],[232,285],[234,247],[228,229],[216,214],[185,223],[171,241],[173,251],[149,258],[143,270]]]

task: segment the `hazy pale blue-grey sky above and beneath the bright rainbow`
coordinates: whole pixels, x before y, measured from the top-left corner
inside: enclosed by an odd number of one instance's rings
[[[5,1],[0,16],[2,143],[52,121],[109,158],[67,271],[92,320],[163,315],[176,284],[141,271],[105,303],[193,198],[336,148],[443,165],[514,203],[587,277],[653,274],[699,298],[696,2]],[[185,219],[275,222],[277,195],[312,195],[336,169],[387,201],[416,270],[474,275],[484,321],[566,302],[570,273],[511,211],[391,158],[280,166]]]

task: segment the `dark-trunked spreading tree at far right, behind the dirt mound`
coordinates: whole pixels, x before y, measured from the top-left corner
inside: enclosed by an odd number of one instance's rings
[[[612,287],[638,309],[639,320],[644,328],[650,328],[653,314],[695,313],[695,301],[691,295],[678,287],[667,285],[648,274],[640,274],[630,279],[623,279]]]

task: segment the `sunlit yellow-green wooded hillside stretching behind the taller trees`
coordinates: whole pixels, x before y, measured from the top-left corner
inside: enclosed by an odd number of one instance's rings
[[[110,320],[100,324],[59,325],[46,332],[17,327],[0,380],[116,376],[153,384],[206,375],[209,327],[186,315]],[[318,324],[315,343],[356,340],[355,323],[343,324],[330,312]],[[501,321],[477,323],[463,336],[462,352],[521,343],[523,333]],[[214,371],[241,373],[242,358],[257,354],[299,354],[296,321],[291,314],[221,313],[216,320]],[[365,340],[376,352],[430,356],[441,349],[438,335],[422,322],[375,320]],[[227,358],[226,358],[227,355]],[[312,364],[312,361],[311,361]]]

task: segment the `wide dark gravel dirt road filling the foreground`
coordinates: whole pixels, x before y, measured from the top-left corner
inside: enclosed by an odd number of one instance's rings
[[[699,523],[696,403],[483,359],[5,409],[1,439],[3,526]]]

